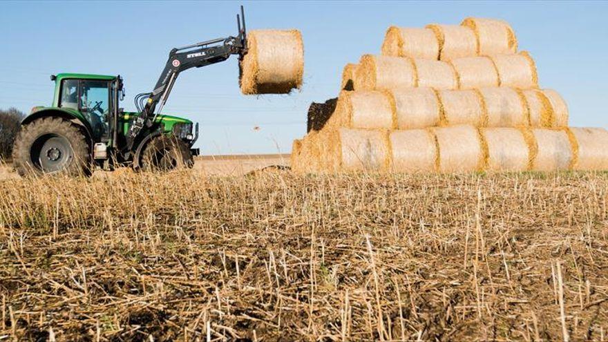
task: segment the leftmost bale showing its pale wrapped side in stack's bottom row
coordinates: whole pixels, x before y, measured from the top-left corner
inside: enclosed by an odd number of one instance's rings
[[[343,171],[385,171],[390,164],[386,130],[345,129],[332,134],[331,145],[339,146]],[[336,155],[337,156],[337,155]]]

